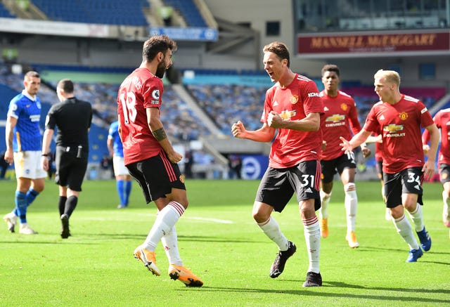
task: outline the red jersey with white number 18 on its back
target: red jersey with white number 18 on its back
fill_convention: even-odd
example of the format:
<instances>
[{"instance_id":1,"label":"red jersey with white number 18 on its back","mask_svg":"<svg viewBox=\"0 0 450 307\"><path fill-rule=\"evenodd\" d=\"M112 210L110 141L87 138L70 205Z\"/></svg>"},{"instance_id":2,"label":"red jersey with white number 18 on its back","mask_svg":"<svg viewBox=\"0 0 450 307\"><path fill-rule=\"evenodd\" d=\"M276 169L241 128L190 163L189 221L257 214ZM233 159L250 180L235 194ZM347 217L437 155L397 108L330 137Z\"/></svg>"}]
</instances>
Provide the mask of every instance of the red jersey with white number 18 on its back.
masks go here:
<instances>
[{"instance_id":1,"label":"red jersey with white number 18 on its back","mask_svg":"<svg viewBox=\"0 0 450 307\"><path fill-rule=\"evenodd\" d=\"M162 81L146 68L139 67L124 79L117 94L120 138L125 165L159 155L162 147L147 123L147 107L160 107Z\"/></svg>"}]
</instances>

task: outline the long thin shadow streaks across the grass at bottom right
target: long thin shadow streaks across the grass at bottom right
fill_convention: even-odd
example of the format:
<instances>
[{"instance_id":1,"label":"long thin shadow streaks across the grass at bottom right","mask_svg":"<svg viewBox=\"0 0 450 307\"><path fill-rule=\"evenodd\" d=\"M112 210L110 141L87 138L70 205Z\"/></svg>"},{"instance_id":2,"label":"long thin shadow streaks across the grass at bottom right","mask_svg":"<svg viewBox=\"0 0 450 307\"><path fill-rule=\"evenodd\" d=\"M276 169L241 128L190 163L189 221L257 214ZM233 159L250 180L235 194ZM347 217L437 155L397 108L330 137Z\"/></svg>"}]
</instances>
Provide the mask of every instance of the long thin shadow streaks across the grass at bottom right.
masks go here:
<instances>
[{"instance_id":1,"label":"long thin shadow streaks across the grass at bottom right","mask_svg":"<svg viewBox=\"0 0 450 307\"><path fill-rule=\"evenodd\" d=\"M298 280L295 280L298 282ZM301 285L299 285L301 287ZM397 292L405 292L405 293L416 293L417 296L392 296L392 295L368 295L368 294L350 294L350 293L330 293L330 292L320 292L320 289L326 287L340 287L340 288L351 288L351 289L366 289L368 291L372 290L380 290L380 291L397 291ZM189 291L191 288L186 288L184 291ZM445 289L405 289L405 288L383 288L383 287L363 287L359 285L349 285L345 282L326 282L322 287L314 287L314 288L302 288L298 290L274 290L274 289L247 289L247 288L230 288L230 287L207 287L203 286L202 291L210 291L210 292L244 292L244 293L273 293L273 294L291 294L298 296L321 296L321 297L332 297L332 298L343 298L343 299L369 299L369 300L380 300L380 301L404 301L404 302L423 302L423 303L449 303L448 299L429 299L425 297L420 297L420 293L430 294L450 294L449 290ZM314 291L314 290L319 291Z\"/></svg>"}]
</instances>

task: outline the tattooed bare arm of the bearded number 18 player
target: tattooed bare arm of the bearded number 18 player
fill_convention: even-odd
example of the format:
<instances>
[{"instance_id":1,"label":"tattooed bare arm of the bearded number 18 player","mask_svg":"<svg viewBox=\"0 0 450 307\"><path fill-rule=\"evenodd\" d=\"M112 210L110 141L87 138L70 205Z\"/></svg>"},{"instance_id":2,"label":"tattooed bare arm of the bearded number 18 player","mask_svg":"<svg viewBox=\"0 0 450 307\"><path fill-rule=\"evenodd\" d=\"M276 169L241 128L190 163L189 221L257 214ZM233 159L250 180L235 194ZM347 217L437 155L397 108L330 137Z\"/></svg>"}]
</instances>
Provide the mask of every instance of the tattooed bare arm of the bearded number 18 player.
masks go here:
<instances>
[{"instance_id":1,"label":"tattooed bare arm of the bearded number 18 player","mask_svg":"<svg viewBox=\"0 0 450 307\"><path fill-rule=\"evenodd\" d=\"M160 145L166 152L170 162L180 162L183 156L174 150L169 138L167 138L166 131L160 120L160 109L158 109L158 107L147 107L146 112L148 127L150 128L150 131L152 131L153 136L155 136L156 141L160 142Z\"/></svg>"}]
</instances>

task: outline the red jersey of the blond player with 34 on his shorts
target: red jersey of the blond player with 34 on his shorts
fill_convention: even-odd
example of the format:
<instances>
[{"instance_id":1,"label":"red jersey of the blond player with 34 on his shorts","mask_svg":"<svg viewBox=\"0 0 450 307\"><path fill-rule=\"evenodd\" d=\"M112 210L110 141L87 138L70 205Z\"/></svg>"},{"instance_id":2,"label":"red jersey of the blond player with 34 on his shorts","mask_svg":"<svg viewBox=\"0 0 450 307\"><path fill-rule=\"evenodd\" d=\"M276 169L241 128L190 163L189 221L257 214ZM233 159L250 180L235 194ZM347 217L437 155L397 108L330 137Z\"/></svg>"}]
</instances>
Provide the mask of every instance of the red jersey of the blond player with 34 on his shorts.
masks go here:
<instances>
[{"instance_id":1,"label":"red jersey of the blond player with 34 on his shorts","mask_svg":"<svg viewBox=\"0 0 450 307\"><path fill-rule=\"evenodd\" d=\"M401 95L394 105L375 103L367 115L364 130L382 131L383 171L394 174L409 167L423 166L420 128L431 124L430 112L420 100Z\"/></svg>"}]
</instances>

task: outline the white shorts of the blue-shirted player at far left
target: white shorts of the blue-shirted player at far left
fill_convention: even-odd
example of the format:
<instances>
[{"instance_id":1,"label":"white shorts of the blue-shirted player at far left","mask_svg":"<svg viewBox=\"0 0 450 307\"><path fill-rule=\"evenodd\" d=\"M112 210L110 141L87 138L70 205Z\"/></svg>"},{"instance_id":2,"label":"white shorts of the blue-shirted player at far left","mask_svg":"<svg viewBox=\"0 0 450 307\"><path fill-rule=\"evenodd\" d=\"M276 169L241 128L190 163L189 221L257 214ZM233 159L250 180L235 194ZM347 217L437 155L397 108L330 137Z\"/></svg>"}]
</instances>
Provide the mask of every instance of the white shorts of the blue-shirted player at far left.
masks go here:
<instances>
[{"instance_id":1,"label":"white shorts of the blue-shirted player at far left","mask_svg":"<svg viewBox=\"0 0 450 307\"><path fill-rule=\"evenodd\" d=\"M15 178L46 178L41 166L41 150L14 152Z\"/></svg>"}]
</instances>

